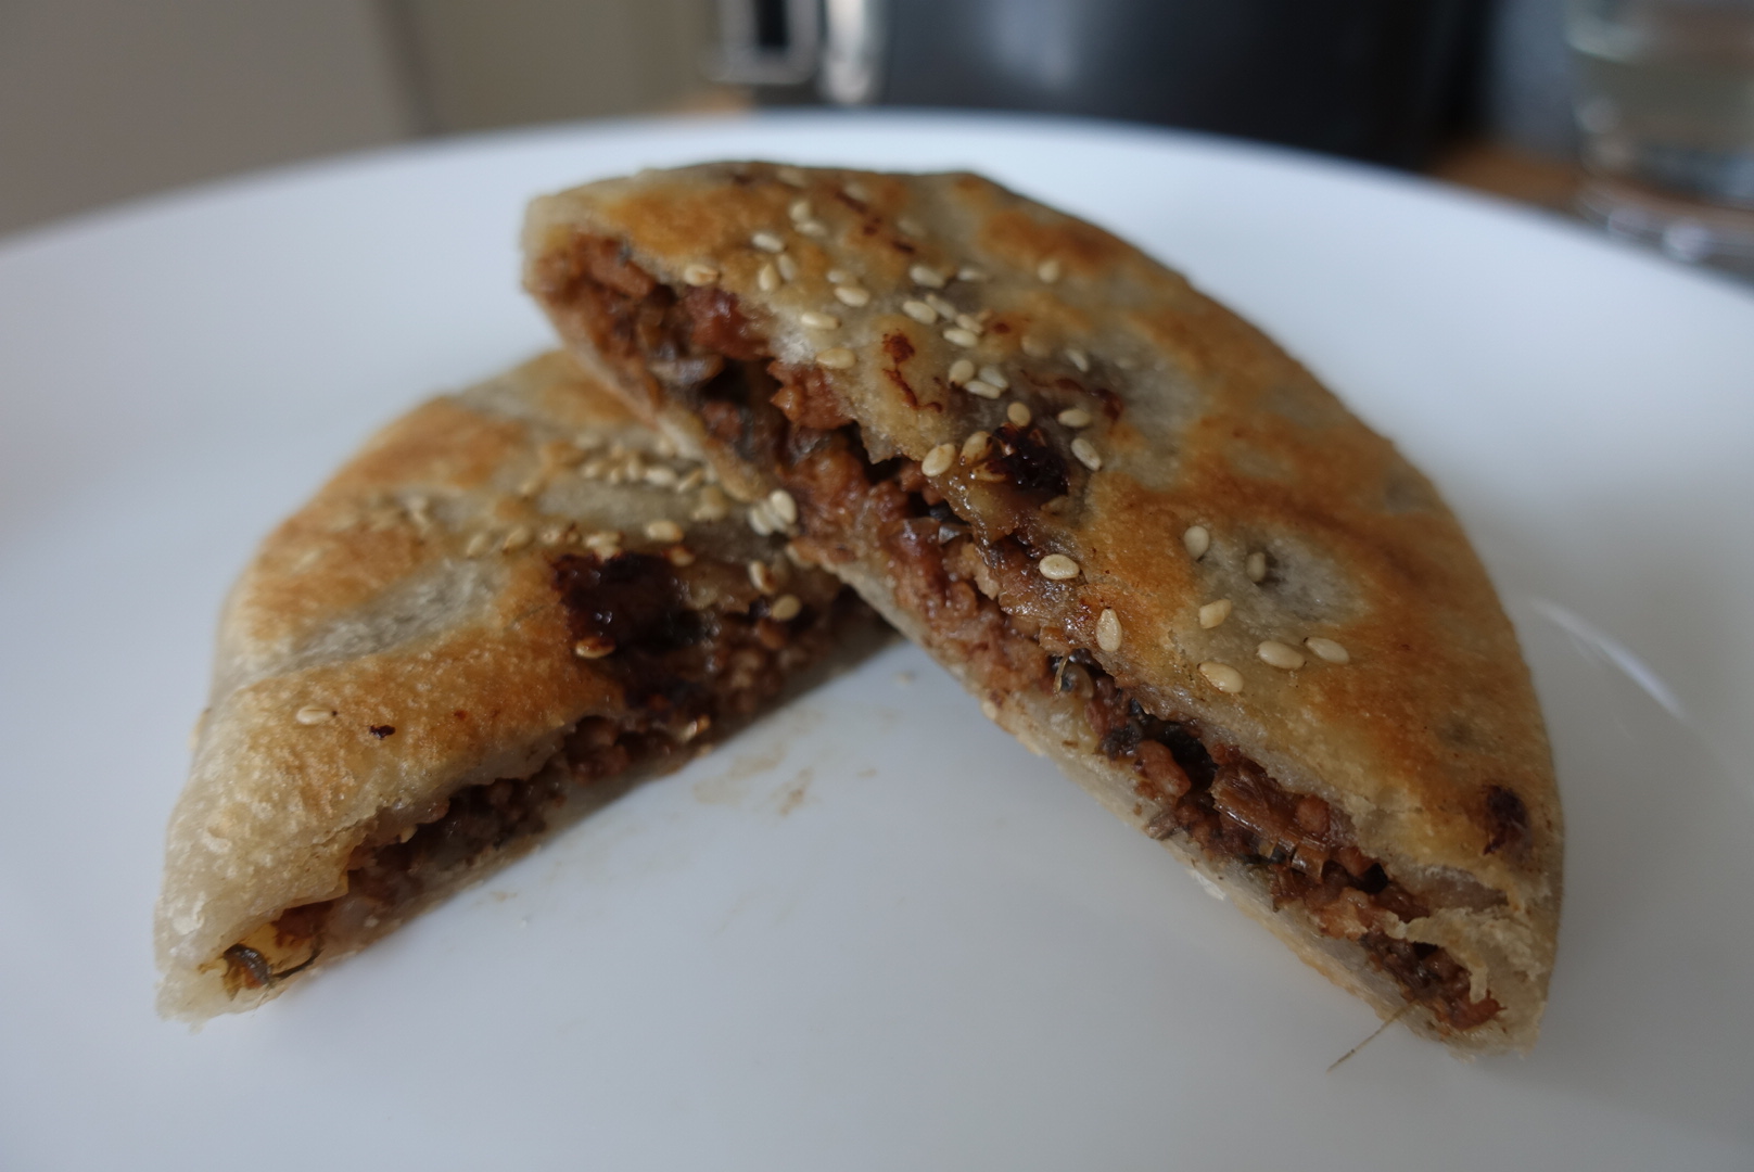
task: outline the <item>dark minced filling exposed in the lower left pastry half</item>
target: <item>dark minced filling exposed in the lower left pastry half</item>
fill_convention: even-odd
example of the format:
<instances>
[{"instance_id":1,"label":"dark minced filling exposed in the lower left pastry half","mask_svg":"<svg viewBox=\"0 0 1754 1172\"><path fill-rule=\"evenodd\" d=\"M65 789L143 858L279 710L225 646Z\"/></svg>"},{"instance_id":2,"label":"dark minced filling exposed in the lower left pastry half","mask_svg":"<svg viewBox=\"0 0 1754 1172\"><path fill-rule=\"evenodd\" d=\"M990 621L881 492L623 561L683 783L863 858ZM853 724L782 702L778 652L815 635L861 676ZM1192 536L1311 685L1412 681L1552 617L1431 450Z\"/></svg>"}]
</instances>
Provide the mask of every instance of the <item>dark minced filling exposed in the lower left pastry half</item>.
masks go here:
<instances>
[{"instance_id":1,"label":"dark minced filling exposed in the lower left pastry half","mask_svg":"<svg viewBox=\"0 0 1754 1172\"><path fill-rule=\"evenodd\" d=\"M572 639L600 651L595 670L621 684L623 709L581 719L533 775L465 786L423 823L368 837L349 861L346 895L288 909L225 951L228 993L272 986L324 951L381 935L433 888L533 840L577 788L681 765L702 737L749 718L868 614L851 590L810 572L788 582L798 611L777 618L777 597L758 593L745 565L698 558L684 568L652 553L560 554L553 586ZM703 597L714 605L689 605Z\"/></svg>"}]
</instances>

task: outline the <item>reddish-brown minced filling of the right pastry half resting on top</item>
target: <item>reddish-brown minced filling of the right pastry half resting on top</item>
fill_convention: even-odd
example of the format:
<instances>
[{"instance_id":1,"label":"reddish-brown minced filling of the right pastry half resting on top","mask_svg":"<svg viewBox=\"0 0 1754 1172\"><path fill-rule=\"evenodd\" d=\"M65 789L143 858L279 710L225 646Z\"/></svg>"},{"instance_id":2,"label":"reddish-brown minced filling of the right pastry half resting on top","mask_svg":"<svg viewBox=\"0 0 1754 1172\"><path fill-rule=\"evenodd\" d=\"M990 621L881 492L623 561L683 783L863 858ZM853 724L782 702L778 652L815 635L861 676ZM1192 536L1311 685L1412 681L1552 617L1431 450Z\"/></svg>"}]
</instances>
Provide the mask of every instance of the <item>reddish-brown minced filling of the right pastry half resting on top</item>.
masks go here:
<instances>
[{"instance_id":1,"label":"reddish-brown minced filling of the right pastry half resting on top","mask_svg":"<svg viewBox=\"0 0 1754 1172\"><path fill-rule=\"evenodd\" d=\"M735 297L675 291L614 240L591 237L551 256L535 284L563 330L635 382L656 381L654 391L698 414L724 451L791 493L802 553L882 565L935 649L993 695L1080 700L1098 749L1133 772L1135 812L1149 812L1152 837L1182 835L1214 860L1254 868L1275 907L1296 904L1326 935L1356 942L1444 1028L1472 1030L1500 1012L1491 995L1470 1000L1468 968L1445 949L1389 933L1430 907L1358 849L1340 811L1287 791L1198 721L1149 711L1087 649L1061 646L1063 635L1024 614L1040 611L1002 609L995 597L1042 590L1026 526L982 540L916 461L868 460L821 372L774 361ZM982 472L1012 488L1019 516L1052 509L1068 484L1040 428L998 428Z\"/></svg>"}]
</instances>

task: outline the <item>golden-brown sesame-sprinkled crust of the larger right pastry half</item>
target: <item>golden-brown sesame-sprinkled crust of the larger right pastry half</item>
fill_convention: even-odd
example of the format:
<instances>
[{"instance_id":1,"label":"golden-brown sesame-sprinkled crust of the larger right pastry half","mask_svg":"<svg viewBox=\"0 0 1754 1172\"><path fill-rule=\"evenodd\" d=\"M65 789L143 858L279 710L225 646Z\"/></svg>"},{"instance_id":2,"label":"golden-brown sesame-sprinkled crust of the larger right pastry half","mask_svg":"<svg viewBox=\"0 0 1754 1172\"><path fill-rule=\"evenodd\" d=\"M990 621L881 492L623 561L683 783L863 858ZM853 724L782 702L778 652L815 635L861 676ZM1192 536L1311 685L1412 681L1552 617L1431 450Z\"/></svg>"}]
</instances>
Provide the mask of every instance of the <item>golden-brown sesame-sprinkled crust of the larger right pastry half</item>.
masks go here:
<instances>
[{"instance_id":1,"label":"golden-brown sesame-sprinkled crust of the larger right pastry half","mask_svg":"<svg viewBox=\"0 0 1754 1172\"><path fill-rule=\"evenodd\" d=\"M775 368L809 370L817 411L854 419L873 460L924 461L945 444L959 453L972 433L998 432L1012 404L1028 407L1063 463L1065 500L1019 512L965 458L930 477L979 537L1077 563L1045 602L1000 604L1035 607L1044 644L1089 649L1154 711L1198 719L1286 788L1342 809L1358 846L1408 886L1501 893L1498 907L1435 912L1405 935L1442 944L1505 1007L1449 1040L1533 1042L1558 926L1561 816L1528 670L1438 493L1303 367L1135 247L973 175L721 163L537 200L530 289L584 361L719 460L745 498L772 488L765 472L716 446L652 370L605 354L582 319L581 288L605 267L588 249L603 240L665 286L735 298ZM1005 386L970 393L963 360ZM1068 409L1089 421L1059 423ZM1198 558L1184 540L1194 526L1209 535ZM1251 554L1265 556L1261 581ZM931 646L881 565L837 572ZM1217 600L1231 614L1203 626L1200 607ZM1349 661L1326 661L1307 639L1338 644ZM1266 640L1301 665L1263 661ZM1221 690L1212 675L1224 672L1201 665L1233 668L1242 690ZM1052 740L1044 712L988 698L1019 735ZM1149 821L1112 767L1080 765L1089 754L1065 740L1049 747L1117 812ZM1326 940L1258 911L1340 979ZM1373 975L1342 983L1358 990Z\"/></svg>"}]
</instances>

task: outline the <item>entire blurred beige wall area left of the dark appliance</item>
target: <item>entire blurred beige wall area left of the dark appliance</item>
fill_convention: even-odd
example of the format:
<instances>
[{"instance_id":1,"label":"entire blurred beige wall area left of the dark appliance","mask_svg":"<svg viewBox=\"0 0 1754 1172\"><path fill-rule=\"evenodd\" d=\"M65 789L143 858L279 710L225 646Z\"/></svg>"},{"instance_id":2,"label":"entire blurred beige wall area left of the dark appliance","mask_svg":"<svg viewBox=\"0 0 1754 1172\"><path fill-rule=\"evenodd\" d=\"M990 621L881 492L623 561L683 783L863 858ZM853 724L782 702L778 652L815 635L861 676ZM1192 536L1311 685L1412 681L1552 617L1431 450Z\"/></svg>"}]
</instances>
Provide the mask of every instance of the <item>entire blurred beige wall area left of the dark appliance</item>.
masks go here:
<instances>
[{"instance_id":1,"label":"entire blurred beige wall area left of the dark appliance","mask_svg":"<svg viewBox=\"0 0 1754 1172\"><path fill-rule=\"evenodd\" d=\"M0 233L274 163L698 104L710 0L0 0Z\"/></svg>"}]
</instances>

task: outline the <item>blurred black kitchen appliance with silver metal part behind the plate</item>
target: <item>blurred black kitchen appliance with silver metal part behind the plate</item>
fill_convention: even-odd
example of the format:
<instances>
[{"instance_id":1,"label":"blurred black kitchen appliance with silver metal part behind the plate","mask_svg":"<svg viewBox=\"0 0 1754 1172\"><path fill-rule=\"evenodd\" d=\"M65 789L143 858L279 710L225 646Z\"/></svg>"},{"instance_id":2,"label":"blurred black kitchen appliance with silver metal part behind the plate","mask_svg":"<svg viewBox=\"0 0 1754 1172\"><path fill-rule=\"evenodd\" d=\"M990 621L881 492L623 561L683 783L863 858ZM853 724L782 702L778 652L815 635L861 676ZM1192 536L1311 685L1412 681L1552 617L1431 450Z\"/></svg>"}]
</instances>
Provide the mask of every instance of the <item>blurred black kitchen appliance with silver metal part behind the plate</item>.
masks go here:
<instances>
[{"instance_id":1,"label":"blurred black kitchen appliance with silver metal part behind the plate","mask_svg":"<svg viewBox=\"0 0 1754 1172\"><path fill-rule=\"evenodd\" d=\"M1486 0L719 0L763 100L1089 114L1421 165ZM766 88L763 88L766 86Z\"/></svg>"}]
</instances>

